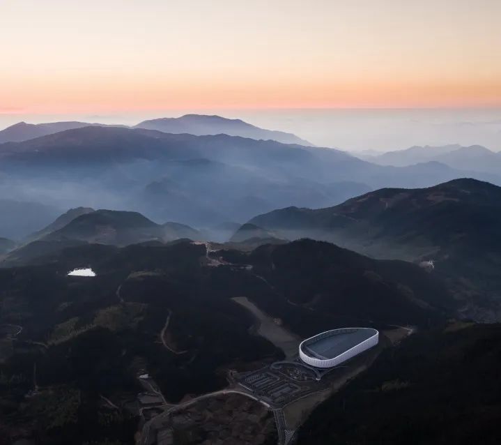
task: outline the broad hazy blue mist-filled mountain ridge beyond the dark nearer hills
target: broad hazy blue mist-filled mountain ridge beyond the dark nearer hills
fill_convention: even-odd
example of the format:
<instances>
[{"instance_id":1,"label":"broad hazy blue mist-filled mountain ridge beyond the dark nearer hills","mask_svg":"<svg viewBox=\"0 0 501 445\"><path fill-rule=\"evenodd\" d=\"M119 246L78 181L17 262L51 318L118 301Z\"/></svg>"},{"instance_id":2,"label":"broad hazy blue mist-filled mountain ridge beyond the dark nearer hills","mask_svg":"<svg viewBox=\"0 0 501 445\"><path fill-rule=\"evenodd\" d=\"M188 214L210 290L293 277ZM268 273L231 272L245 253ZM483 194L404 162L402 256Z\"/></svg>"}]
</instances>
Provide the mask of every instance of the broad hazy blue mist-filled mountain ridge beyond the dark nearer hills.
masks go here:
<instances>
[{"instance_id":1,"label":"broad hazy blue mist-filled mountain ridge beyond the dark nearer hills","mask_svg":"<svg viewBox=\"0 0 501 445\"><path fill-rule=\"evenodd\" d=\"M388 186L432 186L464 176L501 183L497 174L436 161L391 167L274 140L102 126L0 144L0 161L0 191L20 202L139 211L197 229L285 206L332 206ZM3 235L19 238L33 229Z\"/></svg>"}]
</instances>

